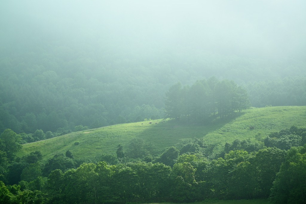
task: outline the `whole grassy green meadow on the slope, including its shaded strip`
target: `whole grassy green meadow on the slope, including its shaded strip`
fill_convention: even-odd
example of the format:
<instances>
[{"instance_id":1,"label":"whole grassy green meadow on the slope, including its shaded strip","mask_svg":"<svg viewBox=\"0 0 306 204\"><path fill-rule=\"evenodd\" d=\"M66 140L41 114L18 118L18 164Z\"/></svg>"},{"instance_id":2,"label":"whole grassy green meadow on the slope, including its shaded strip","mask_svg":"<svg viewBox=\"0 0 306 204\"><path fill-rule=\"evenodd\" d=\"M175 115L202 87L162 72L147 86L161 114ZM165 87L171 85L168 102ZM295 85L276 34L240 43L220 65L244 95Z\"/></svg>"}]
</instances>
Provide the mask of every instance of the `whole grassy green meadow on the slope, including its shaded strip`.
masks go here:
<instances>
[{"instance_id":1,"label":"whole grassy green meadow on the slope, including its shaded strip","mask_svg":"<svg viewBox=\"0 0 306 204\"><path fill-rule=\"evenodd\" d=\"M204 138L207 143L222 144L234 139L255 139L259 132L263 137L266 133L292 125L305 126L306 106L254 108L208 124L187 124L169 119L151 122L111 125L27 143L20 155L39 150L46 159L56 151L65 153L70 150L75 158L92 158L96 153L114 153L118 144L126 147L135 137L154 142L160 150L183 138ZM250 130L250 126L254 129ZM79 141L79 145L74 145L75 141Z\"/></svg>"}]
</instances>

